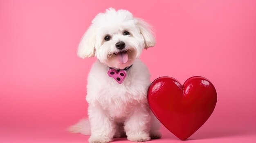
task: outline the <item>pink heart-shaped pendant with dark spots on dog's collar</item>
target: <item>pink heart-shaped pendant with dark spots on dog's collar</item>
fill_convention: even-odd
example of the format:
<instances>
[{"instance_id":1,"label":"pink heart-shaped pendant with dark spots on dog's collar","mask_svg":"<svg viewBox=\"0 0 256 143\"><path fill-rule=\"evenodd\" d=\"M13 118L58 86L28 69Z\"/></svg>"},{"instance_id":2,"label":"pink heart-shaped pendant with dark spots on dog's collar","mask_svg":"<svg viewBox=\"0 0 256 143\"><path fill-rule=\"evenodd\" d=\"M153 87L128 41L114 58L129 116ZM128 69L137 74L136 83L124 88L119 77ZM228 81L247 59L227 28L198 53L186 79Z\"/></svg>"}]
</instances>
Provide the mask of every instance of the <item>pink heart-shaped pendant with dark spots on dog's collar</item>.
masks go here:
<instances>
[{"instance_id":1,"label":"pink heart-shaped pendant with dark spots on dog's collar","mask_svg":"<svg viewBox=\"0 0 256 143\"><path fill-rule=\"evenodd\" d=\"M117 83L122 84L124 82L124 79L126 78L126 71L125 70L117 71L114 68L111 68L108 70L108 76L115 79Z\"/></svg>"}]
</instances>

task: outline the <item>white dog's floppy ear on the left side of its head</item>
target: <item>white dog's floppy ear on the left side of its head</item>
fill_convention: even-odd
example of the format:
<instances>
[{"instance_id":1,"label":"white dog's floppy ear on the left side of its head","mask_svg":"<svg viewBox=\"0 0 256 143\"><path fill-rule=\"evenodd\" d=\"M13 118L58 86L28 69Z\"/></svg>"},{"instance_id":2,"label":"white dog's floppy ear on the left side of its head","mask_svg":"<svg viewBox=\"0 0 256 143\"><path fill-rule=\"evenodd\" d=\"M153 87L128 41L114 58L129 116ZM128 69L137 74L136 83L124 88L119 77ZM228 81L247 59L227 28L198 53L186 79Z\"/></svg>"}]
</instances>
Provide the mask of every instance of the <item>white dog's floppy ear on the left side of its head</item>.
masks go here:
<instances>
[{"instance_id":1,"label":"white dog's floppy ear on the left side of its head","mask_svg":"<svg viewBox=\"0 0 256 143\"><path fill-rule=\"evenodd\" d=\"M85 57L94 57L95 54L95 31L94 27L90 26L88 30L84 33L79 46L77 55L78 57L85 58Z\"/></svg>"}]
</instances>

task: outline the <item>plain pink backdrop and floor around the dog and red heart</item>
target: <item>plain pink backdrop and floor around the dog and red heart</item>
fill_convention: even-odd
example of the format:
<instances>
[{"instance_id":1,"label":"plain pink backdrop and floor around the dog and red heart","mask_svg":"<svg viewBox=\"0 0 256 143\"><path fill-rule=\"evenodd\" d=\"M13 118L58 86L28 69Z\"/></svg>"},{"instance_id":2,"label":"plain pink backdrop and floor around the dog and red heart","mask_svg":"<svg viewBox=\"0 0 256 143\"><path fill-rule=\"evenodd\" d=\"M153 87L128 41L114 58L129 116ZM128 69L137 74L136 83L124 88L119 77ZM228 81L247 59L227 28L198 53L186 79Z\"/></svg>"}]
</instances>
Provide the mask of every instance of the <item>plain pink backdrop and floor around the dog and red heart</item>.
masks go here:
<instances>
[{"instance_id":1,"label":"plain pink backdrop and floor around the dog and red heart","mask_svg":"<svg viewBox=\"0 0 256 143\"><path fill-rule=\"evenodd\" d=\"M79 59L76 49L108 7L153 25L157 44L141 55L152 81L200 75L215 85L216 109L189 142L256 140L255 0L0 0L1 143L87 142L65 131L87 116L86 78L96 60ZM181 142L162 132L152 142Z\"/></svg>"}]
</instances>

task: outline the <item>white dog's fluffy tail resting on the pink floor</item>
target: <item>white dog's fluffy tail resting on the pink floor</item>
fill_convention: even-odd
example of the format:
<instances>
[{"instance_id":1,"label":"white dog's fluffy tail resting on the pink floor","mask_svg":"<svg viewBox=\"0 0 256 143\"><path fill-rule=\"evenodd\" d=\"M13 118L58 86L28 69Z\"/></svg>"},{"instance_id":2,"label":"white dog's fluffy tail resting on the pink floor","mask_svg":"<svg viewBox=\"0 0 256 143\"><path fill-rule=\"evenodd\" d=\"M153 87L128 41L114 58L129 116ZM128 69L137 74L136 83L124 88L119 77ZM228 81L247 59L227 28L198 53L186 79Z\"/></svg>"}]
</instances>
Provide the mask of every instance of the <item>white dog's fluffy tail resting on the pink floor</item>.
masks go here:
<instances>
[{"instance_id":1,"label":"white dog's fluffy tail resting on the pink floor","mask_svg":"<svg viewBox=\"0 0 256 143\"><path fill-rule=\"evenodd\" d=\"M91 135L91 125L88 119L81 119L78 123L70 126L67 130L72 133L81 133L88 136Z\"/></svg>"}]
</instances>

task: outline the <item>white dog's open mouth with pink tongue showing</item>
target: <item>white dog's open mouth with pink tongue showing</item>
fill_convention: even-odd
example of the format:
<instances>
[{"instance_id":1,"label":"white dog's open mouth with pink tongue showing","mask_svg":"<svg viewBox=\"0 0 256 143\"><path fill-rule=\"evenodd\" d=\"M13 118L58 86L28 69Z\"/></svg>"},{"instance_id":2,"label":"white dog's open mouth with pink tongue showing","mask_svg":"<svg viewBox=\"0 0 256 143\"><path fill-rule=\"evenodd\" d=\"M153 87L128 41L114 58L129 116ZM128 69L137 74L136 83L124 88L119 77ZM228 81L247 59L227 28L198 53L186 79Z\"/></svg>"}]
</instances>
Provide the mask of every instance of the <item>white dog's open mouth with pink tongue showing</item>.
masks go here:
<instances>
[{"instance_id":1,"label":"white dog's open mouth with pink tongue showing","mask_svg":"<svg viewBox=\"0 0 256 143\"><path fill-rule=\"evenodd\" d=\"M125 49L123 51L115 52L110 54L110 58L116 58L119 64L126 64L129 59L132 59L134 56L134 49Z\"/></svg>"}]
</instances>

